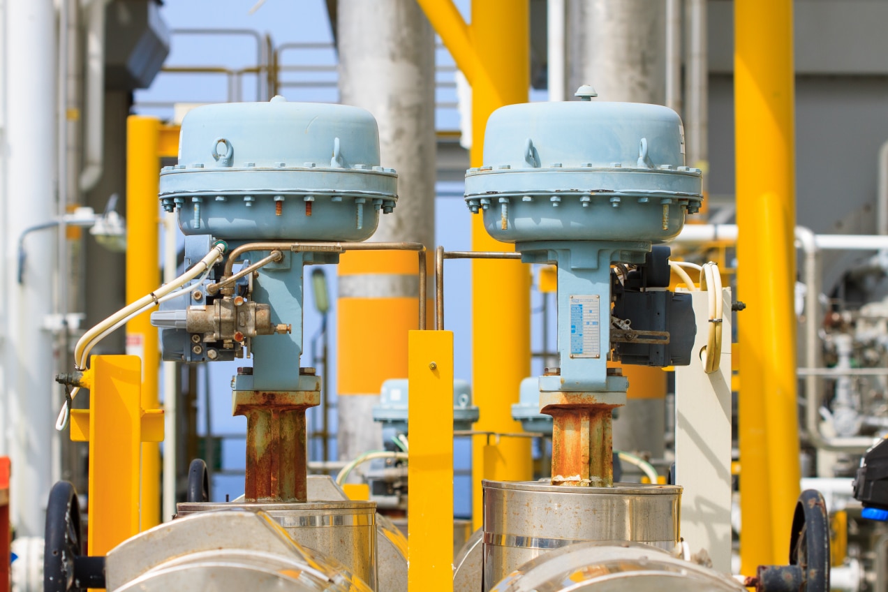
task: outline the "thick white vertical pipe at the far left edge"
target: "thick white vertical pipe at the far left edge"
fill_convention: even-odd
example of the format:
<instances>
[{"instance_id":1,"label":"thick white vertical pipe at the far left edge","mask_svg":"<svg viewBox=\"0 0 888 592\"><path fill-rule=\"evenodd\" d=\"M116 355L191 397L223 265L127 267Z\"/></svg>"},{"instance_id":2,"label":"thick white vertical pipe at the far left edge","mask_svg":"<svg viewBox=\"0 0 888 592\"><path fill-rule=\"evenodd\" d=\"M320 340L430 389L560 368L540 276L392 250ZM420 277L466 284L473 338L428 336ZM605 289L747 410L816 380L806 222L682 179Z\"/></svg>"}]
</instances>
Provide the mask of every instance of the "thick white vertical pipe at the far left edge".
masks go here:
<instances>
[{"instance_id":1,"label":"thick white vertical pipe at the far left edge","mask_svg":"<svg viewBox=\"0 0 888 592\"><path fill-rule=\"evenodd\" d=\"M23 282L17 279L16 253L26 228L47 223L55 211L55 12L52 0L5 3L5 130L0 154L5 162L4 292L7 300L2 339L4 380L0 401L7 415L12 522L20 535L44 532L44 507L52 485L53 417L61 402L53 398L52 335L44 329L52 312L55 240L52 231L32 233Z\"/></svg>"}]
</instances>

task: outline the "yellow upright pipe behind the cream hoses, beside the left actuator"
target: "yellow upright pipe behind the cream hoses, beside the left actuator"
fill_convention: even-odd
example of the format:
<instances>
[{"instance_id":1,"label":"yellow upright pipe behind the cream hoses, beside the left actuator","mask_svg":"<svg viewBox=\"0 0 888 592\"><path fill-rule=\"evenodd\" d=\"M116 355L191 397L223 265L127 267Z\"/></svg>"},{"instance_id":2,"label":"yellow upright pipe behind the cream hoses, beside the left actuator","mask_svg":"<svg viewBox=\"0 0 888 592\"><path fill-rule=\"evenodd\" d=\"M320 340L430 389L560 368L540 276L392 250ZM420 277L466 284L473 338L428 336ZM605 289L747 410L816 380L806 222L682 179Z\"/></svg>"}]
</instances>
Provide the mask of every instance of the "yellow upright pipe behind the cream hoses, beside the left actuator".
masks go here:
<instances>
[{"instance_id":1,"label":"yellow upright pipe behind the cream hoses, beside the left actuator","mask_svg":"<svg viewBox=\"0 0 888 592\"><path fill-rule=\"evenodd\" d=\"M130 115L126 122L126 301L153 292L161 281L158 245L161 124L154 117ZM157 329L150 312L126 324L127 353L142 359L142 408L159 407ZM160 445L142 444L141 525L160 524Z\"/></svg>"}]
</instances>

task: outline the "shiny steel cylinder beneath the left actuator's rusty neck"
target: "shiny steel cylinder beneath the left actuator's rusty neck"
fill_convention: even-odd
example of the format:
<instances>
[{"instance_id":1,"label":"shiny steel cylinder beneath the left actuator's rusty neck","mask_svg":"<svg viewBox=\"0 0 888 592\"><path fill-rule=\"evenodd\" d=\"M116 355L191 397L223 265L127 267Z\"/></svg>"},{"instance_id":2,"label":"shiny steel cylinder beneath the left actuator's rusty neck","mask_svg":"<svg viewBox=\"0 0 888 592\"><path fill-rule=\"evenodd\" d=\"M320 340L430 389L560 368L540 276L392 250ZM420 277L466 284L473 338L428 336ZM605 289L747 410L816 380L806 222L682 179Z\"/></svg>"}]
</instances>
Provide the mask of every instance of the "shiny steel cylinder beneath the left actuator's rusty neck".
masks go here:
<instances>
[{"instance_id":1,"label":"shiny steel cylinder beneath the left actuator's rusty neck","mask_svg":"<svg viewBox=\"0 0 888 592\"><path fill-rule=\"evenodd\" d=\"M262 510L303 547L332 557L377 590L377 507L372 501L178 504L178 516L216 509Z\"/></svg>"}]
</instances>

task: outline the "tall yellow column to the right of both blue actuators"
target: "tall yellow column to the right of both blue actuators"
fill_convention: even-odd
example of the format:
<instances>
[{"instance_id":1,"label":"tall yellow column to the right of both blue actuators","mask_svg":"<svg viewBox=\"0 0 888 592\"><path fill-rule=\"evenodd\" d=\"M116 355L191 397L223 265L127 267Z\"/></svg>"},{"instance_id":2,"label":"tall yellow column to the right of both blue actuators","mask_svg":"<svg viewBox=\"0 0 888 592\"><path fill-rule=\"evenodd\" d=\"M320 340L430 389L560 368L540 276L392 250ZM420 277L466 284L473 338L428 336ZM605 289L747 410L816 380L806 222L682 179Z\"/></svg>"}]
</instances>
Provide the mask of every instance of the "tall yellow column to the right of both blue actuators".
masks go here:
<instances>
[{"instance_id":1,"label":"tall yellow column to the right of both blue actuators","mask_svg":"<svg viewBox=\"0 0 888 592\"><path fill-rule=\"evenodd\" d=\"M741 572L786 563L799 490L791 0L734 3Z\"/></svg>"}]
</instances>

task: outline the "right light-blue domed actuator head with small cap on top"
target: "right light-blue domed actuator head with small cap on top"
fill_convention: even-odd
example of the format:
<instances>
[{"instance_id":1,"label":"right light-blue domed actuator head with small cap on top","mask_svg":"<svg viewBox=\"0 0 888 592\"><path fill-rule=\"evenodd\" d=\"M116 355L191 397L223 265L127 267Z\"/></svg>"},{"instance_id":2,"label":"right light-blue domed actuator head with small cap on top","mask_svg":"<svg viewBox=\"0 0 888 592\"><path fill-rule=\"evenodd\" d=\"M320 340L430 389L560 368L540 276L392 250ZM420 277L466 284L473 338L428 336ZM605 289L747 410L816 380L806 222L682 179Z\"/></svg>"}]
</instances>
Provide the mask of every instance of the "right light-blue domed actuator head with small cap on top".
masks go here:
<instances>
[{"instance_id":1,"label":"right light-blue domed actuator head with small cap on top","mask_svg":"<svg viewBox=\"0 0 888 592\"><path fill-rule=\"evenodd\" d=\"M685 165L681 119L668 107L592 101L497 109L484 166L467 171L465 201L496 240L668 241L702 202Z\"/></svg>"}]
</instances>

